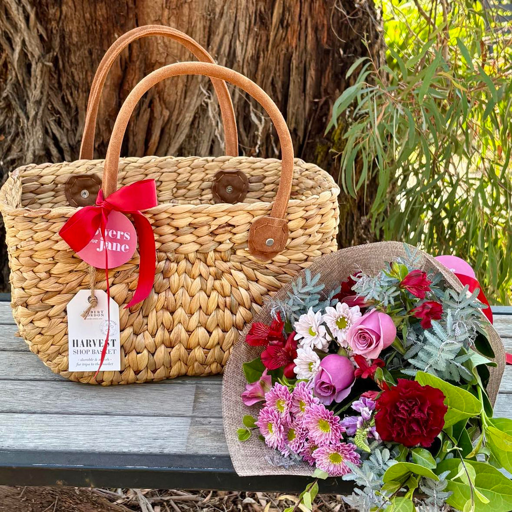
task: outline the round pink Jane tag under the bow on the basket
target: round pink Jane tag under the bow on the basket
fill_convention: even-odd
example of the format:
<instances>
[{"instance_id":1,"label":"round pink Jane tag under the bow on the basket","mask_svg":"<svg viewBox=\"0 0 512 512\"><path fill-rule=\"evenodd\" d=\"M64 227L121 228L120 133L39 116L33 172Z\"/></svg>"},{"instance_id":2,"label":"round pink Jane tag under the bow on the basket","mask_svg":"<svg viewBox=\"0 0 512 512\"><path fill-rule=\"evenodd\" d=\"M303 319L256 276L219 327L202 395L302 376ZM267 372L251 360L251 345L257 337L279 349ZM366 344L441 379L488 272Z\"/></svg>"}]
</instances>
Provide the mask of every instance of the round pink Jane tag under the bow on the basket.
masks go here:
<instances>
[{"instance_id":1,"label":"round pink Jane tag under the bow on the basket","mask_svg":"<svg viewBox=\"0 0 512 512\"><path fill-rule=\"evenodd\" d=\"M106 221L105 238L98 229L93 239L78 252L79 257L96 268L105 268L105 250L109 268L116 268L132 259L137 248L137 233L130 219L119 211L111 211Z\"/></svg>"}]
</instances>

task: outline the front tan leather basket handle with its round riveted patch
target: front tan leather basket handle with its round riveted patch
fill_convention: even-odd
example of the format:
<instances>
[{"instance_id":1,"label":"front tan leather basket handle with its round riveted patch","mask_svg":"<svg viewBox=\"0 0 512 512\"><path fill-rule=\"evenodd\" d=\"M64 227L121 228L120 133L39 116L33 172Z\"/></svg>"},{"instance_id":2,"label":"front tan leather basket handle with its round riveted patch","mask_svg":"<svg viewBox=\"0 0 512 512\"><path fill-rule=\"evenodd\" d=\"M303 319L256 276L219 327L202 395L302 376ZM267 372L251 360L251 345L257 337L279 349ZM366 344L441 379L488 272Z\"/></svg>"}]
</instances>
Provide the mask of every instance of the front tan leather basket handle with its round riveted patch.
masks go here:
<instances>
[{"instance_id":1,"label":"front tan leather basket handle with its round riveted patch","mask_svg":"<svg viewBox=\"0 0 512 512\"><path fill-rule=\"evenodd\" d=\"M103 169L103 194L108 197L117 190L117 174L121 145L130 117L137 102L156 83L178 75L205 75L230 82L258 101L267 111L278 133L281 144L281 179L272 204L270 216L255 219L249 229L249 252L259 260L269 260L282 252L288 241L285 220L293 179L293 144L283 115L267 93L246 76L223 66L206 62L179 62L153 71L144 77L130 92L117 116L106 151Z\"/></svg>"}]
</instances>

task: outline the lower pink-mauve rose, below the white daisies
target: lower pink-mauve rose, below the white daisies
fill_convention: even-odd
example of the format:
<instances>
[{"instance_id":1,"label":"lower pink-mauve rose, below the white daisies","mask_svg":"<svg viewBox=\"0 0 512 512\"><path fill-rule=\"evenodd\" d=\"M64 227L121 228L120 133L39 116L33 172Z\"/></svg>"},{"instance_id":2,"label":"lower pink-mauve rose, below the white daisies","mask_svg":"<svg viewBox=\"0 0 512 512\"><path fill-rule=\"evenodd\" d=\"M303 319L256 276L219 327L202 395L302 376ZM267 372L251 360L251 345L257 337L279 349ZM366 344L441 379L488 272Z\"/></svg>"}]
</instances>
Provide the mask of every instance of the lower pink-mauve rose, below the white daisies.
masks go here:
<instances>
[{"instance_id":1,"label":"lower pink-mauve rose, below the white daisies","mask_svg":"<svg viewBox=\"0 0 512 512\"><path fill-rule=\"evenodd\" d=\"M314 392L326 406L347 398L355 382L354 365L348 357L338 354L325 356L314 379Z\"/></svg>"}]
</instances>

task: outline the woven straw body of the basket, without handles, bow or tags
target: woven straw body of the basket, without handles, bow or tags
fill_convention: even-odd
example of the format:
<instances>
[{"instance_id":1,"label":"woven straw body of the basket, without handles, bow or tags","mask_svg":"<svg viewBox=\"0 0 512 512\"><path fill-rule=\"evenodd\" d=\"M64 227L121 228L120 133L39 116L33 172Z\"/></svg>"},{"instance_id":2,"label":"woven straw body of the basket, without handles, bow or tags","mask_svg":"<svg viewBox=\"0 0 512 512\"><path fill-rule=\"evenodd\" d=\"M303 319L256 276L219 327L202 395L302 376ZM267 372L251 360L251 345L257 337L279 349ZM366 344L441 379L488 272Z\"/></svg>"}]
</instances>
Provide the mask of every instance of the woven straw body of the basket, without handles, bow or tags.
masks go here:
<instances>
[{"instance_id":1,"label":"woven straw body of the basket, without handles, bow or tags","mask_svg":"<svg viewBox=\"0 0 512 512\"><path fill-rule=\"evenodd\" d=\"M213 204L212 178L220 169L249 178L244 203ZM253 219L268 215L281 161L220 157L125 158L119 183L157 182L159 205L145 212L155 234L153 292L120 309L121 371L100 372L103 384L144 382L222 371L239 330L278 290L322 254L336 250L338 187L315 165L294 161L285 250L268 263L247 250ZM11 269L12 307L20 335L55 373L94 382L94 373L68 372L66 305L89 287L89 266L58 231L76 208L64 184L72 174L101 174L103 160L27 165L0 190ZM110 272L111 295L127 304L135 290L138 253ZM96 288L105 290L102 272Z\"/></svg>"}]
</instances>

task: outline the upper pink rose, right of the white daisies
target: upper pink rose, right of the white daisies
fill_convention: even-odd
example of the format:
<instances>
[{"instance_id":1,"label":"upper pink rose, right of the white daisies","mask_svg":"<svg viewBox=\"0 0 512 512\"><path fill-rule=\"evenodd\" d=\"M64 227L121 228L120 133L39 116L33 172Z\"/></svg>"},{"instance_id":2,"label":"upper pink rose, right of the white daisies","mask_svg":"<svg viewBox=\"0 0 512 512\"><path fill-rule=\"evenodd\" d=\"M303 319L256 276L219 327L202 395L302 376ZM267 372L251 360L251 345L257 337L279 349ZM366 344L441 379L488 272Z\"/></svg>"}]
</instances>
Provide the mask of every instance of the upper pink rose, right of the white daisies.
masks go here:
<instances>
[{"instance_id":1,"label":"upper pink rose, right of the white daisies","mask_svg":"<svg viewBox=\"0 0 512 512\"><path fill-rule=\"evenodd\" d=\"M362 315L347 332L347 342L354 354L375 359L396 338L393 318L375 309Z\"/></svg>"}]
</instances>

